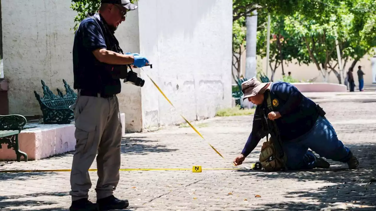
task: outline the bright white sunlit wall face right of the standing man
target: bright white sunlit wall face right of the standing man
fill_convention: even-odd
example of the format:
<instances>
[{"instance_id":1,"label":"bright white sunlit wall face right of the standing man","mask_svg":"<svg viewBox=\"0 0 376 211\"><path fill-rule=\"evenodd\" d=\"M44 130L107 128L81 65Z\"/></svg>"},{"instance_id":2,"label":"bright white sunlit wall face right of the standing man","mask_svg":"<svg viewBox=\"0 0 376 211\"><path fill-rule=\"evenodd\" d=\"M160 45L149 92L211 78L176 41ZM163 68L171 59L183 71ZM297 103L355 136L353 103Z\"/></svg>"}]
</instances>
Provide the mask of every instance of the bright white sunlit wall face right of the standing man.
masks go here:
<instances>
[{"instance_id":1,"label":"bright white sunlit wall face right of the standing man","mask_svg":"<svg viewBox=\"0 0 376 211\"><path fill-rule=\"evenodd\" d=\"M144 128L215 116L231 107L232 1L139 1L140 51L153 69L141 89Z\"/></svg>"}]
</instances>

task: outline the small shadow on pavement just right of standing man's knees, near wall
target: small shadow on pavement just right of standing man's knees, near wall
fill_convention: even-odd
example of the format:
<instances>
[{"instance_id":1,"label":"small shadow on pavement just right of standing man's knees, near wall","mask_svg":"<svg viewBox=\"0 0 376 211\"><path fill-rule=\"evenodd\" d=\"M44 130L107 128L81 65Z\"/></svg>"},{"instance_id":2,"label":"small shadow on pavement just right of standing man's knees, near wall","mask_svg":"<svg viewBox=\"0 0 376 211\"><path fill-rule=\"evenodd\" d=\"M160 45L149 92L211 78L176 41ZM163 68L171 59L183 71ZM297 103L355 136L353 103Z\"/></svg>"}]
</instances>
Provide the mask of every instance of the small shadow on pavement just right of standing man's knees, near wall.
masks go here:
<instances>
[{"instance_id":1,"label":"small shadow on pavement just right of standing man's knees, near wall","mask_svg":"<svg viewBox=\"0 0 376 211\"><path fill-rule=\"evenodd\" d=\"M167 148L167 145L158 144L157 140L147 140L146 137L127 137L121 140L122 154L146 155L150 152L173 152L179 149Z\"/></svg>"}]
</instances>

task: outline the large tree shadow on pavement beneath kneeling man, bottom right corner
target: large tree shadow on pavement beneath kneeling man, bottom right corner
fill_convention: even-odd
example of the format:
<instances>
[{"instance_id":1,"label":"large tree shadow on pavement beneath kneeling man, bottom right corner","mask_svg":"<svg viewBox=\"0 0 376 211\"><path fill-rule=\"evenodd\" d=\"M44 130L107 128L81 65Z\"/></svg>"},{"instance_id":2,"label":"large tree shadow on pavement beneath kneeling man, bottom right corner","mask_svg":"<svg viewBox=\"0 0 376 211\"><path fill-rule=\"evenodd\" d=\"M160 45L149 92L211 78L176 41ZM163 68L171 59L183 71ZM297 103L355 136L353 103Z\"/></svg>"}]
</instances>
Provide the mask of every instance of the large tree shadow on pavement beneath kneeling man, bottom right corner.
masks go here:
<instances>
[{"instance_id":1,"label":"large tree shadow on pavement beneath kneeling man, bottom right corner","mask_svg":"<svg viewBox=\"0 0 376 211\"><path fill-rule=\"evenodd\" d=\"M374 182L376 146L371 143L346 146L352 149L353 154L359 160L359 167L355 170L348 169L346 163L327 160L331 165L337 165L330 169L248 174L248 176L253 175L262 179L294 179L303 182L328 183L317 189L287 192L284 196L285 202L268 203L262 205L260 209L253 210L320 210L334 208L334 206L335 210L376 210L376 182ZM289 198L297 197L303 200L309 199L310 202L288 201Z\"/></svg>"}]
</instances>

